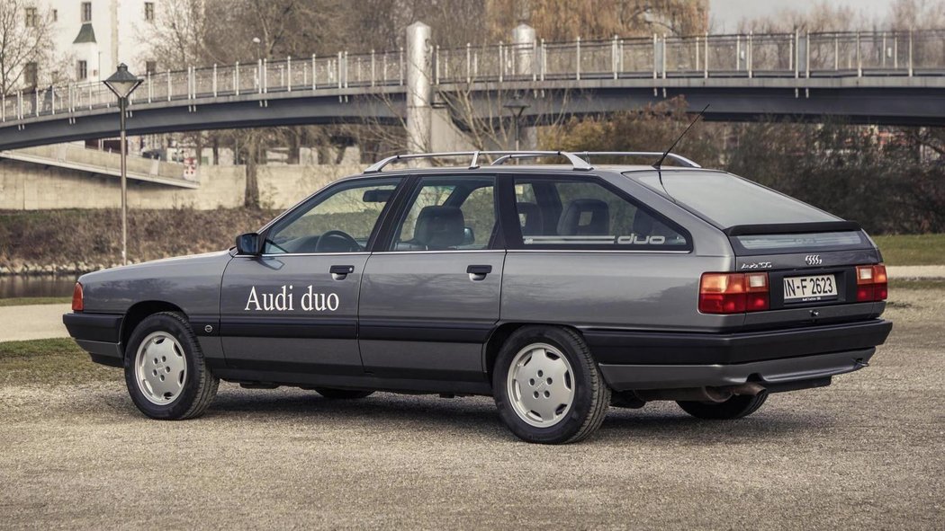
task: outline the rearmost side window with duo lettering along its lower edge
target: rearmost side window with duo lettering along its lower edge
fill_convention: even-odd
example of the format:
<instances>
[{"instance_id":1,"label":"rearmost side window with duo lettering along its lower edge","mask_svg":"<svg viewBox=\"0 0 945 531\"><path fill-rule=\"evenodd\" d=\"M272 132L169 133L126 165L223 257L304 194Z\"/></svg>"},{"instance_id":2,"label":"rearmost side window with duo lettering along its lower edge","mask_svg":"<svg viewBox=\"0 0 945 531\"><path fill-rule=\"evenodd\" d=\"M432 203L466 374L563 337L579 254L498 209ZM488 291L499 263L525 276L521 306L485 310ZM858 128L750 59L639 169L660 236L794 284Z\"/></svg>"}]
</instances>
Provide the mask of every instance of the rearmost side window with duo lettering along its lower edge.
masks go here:
<instances>
[{"instance_id":1,"label":"rearmost side window with duo lettering along its lower edge","mask_svg":"<svg viewBox=\"0 0 945 531\"><path fill-rule=\"evenodd\" d=\"M515 179L525 249L686 251L685 231L628 197L587 179Z\"/></svg>"}]
</instances>

